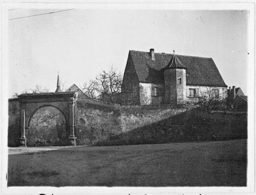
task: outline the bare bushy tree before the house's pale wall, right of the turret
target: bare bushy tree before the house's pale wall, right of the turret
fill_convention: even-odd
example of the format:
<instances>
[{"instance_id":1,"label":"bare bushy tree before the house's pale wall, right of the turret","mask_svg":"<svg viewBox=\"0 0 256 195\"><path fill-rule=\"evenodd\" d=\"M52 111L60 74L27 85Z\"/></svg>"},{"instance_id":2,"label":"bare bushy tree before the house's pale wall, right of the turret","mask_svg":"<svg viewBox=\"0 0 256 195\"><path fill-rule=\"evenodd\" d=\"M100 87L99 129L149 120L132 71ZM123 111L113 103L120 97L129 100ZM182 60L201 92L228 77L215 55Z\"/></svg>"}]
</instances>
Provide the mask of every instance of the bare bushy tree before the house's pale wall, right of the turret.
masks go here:
<instances>
[{"instance_id":1,"label":"bare bushy tree before the house's pale wall, right of the turret","mask_svg":"<svg viewBox=\"0 0 256 195\"><path fill-rule=\"evenodd\" d=\"M205 91L200 91L197 95L198 102L201 108L206 110L215 110L225 107L225 99L222 96L225 94L219 94L218 91L207 88Z\"/></svg>"}]
</instances>

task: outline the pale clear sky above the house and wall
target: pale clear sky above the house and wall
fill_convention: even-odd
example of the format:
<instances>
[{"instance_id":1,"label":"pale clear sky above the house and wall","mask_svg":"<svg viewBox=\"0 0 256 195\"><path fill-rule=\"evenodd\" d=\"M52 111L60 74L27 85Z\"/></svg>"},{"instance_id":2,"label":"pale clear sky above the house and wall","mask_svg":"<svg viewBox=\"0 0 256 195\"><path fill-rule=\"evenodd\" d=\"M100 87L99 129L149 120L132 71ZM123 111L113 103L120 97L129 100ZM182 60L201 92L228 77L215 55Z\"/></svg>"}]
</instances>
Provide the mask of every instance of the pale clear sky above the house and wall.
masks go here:
<instances>
[{"instance_id":1,"label":"pale clear sky above the house and wall","mask_svg":"<svg viewBox=\"0 0 256 195\"><path fill-rule=\"evenodd\" d=\"M14 9L8 11L8 96L35 85L82 87L129 50L212 58L226 85L247 94L246 10ZM26 17L36 14L38 16ZM15 19L18 18L18 19Z\"/></svg>"}]
</instances>

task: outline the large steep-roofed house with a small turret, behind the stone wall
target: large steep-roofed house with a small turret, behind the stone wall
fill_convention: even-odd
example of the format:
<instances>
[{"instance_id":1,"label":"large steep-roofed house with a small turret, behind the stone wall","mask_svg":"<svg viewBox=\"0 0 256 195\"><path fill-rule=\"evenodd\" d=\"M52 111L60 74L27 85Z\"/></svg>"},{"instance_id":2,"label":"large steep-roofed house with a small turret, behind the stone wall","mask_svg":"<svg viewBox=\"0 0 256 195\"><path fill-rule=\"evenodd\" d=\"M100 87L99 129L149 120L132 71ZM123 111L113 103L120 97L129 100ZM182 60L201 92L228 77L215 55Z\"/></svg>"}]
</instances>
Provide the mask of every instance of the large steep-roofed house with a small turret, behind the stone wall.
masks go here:
<instances>
[{"instance_id":1,"label":"large steep-roofed house with a small turret, behind the stone wall","mask_svg":"<svg viewBox=\"0 0 256 195\"><path fill-rule=\"evenodd\" d=\"M220 99L227 85L212 58L130 50L122 82L124 104L183 104L213 92Z\"/></svg>"}]
</instances>

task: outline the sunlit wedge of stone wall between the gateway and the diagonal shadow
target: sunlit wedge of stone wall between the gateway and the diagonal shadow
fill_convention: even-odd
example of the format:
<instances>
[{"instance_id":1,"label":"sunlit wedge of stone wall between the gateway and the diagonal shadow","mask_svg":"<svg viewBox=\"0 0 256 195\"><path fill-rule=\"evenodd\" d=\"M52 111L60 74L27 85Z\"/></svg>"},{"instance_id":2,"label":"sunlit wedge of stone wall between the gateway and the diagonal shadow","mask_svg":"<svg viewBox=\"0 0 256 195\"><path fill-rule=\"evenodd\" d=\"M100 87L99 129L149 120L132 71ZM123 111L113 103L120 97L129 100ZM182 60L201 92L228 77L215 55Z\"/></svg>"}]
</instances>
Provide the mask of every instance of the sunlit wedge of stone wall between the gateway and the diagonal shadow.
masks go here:
<instances>
[{"instance_id":1,"label":"sunlit wedge of stone wall between the gateway and the diagonal shadow","mask_svg":"<svg viewBox=\"0 0 256 195\"><path fill-rule=\"evenodd\" d=\"M110 137L169 118L185 108L171 105L105 104L78 99L75 107L77 144L91 145L109 140Z\"/></svg>"}]
</instances>

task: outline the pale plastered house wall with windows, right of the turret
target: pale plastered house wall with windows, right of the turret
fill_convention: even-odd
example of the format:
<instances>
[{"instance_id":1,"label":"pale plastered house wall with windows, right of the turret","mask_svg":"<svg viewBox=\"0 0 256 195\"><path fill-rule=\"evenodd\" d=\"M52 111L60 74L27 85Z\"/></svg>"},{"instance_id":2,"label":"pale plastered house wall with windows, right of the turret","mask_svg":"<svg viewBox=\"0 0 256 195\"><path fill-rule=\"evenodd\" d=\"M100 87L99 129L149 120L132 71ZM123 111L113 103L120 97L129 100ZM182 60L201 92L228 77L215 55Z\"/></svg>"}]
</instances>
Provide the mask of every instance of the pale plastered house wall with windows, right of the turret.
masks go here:
<instances>
[{"instance_id":1,"label":"pale plastered house wall with windows, right of the turret","mask_svg":"<svg viewBox=\"0 0 256 195\"><path fill-rule=\"evenodd\" d=\"M186 86L186 98L185 98L186 102L196 102L197 101L197 98L188 97L189 89L196 89L197 96L200 96L203 93L207 93L207 91L218 90L221 100L227 98L227 87L187 85Z\"/></svg>"}]
</instances>

